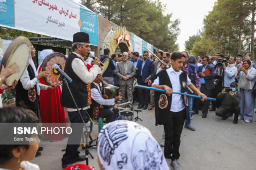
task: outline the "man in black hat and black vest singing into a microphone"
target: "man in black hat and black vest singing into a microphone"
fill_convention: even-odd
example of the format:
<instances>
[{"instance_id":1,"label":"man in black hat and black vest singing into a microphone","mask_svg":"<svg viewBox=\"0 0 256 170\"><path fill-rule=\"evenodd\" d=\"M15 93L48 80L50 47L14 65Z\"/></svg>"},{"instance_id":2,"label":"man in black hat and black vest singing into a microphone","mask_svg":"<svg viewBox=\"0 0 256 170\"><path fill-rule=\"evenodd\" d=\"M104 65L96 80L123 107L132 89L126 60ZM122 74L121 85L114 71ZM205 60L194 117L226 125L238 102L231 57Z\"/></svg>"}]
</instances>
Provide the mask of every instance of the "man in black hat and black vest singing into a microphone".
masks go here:
<instances>
[{"instance_id":1,"label":"man in black hat and black vest singing into a microphone","mask_svg":"<svg viewBox=\"0 0 256 170\"><path fill-rule=\"evenodd\" d=\"M84 61L88 59L90 53L89 43L88 33L77 32L73 35L73 52L68 56L64 69L64 72L73 80L73 82L69 83L68 86L78 108L80 109L80 113L84 121L87 114L86 109L88 109L89 105L92 104L90 98L90 83L92 83L96 76L101 73L101 68L99 67L100 59L98 58L93 62L94 65L90 71L88 71L85 66ZM61 106L67 108L71 123L82 123L82 118L79 112L77 112L67 86L63 86ZM77 151L81 141L82 127L82 124L71 124L73 133L69 135L66 152L61 159L63 168L86 159L85 156L80 156L80 152Z\"/></svg>"}]
</instances>

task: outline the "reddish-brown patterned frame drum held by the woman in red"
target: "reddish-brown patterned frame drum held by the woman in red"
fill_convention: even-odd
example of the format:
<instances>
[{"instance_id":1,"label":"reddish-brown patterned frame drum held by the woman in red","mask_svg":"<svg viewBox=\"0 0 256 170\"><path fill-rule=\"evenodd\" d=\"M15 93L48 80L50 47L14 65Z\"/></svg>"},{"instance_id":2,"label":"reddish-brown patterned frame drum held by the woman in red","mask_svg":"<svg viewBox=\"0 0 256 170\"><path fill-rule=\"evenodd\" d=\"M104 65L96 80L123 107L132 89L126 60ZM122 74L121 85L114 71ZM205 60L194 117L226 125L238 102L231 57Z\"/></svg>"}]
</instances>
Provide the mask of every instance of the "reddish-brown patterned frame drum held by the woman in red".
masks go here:
<instances>
[{"instance_id":1,"label":"reddish-brown patterned frame drum held by the woman in red","mask_svg":"<svg viewBox=\"0 0 256 170\"><path fill-rule=\"evenodd\" d=\"M42 71L49 71L51 74L47 77L44 77L43 80L50 86L60 86L62 81L59 80L60 73L53 69L52 65L56 64L64 71L66 63L66 57L62 53L51 53L42 63Z\"/></svg>"}]
</instances>

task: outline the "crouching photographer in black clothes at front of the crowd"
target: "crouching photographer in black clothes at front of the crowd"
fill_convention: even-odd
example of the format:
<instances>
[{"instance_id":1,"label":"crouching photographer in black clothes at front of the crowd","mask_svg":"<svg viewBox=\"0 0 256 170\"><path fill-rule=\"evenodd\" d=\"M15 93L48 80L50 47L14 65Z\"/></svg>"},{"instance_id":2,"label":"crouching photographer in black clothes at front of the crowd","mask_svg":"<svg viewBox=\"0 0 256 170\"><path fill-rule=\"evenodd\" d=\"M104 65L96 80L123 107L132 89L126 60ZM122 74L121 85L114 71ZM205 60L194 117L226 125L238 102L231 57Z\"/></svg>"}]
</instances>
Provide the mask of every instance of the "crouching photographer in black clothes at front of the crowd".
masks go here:
<instances>
[{"instance_id":1,"label":"crouching photographer in black clothes at front of the crowd","mask_svg":"<svg viewBox=\"0 0 256 170\"><path fill-rule=\"evenodd\" d=\"M240 114L240 92L237 91L237 83L230 83L231 88L224 88L217 96L221 100L221 107L217 109L216 115L222 117L222 120L228 118L228 113L235 113L233 124L237 124L238 115Z\"/></svg>"}]
</instances>

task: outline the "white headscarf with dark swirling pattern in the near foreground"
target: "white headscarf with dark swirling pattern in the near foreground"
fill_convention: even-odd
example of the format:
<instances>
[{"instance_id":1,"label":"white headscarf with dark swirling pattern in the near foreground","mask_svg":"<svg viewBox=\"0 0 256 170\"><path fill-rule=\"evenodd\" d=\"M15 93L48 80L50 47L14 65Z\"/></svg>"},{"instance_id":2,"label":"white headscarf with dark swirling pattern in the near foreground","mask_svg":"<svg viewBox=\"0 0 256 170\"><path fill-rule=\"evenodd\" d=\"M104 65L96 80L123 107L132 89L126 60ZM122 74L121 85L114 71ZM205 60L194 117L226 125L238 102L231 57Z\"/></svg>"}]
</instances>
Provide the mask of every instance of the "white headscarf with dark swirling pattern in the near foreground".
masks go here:
<instances>
[{"instance_id":1,"label":"white headscarf with dark swirling pattern in the near foreground","mask_svg":"<svg viewBox=\"0 0 256 170\"><path fill-rule=\"evenodd\" d=\"M163 152L150 131L132 121L106 124L98 135L97 152L105 170L168 169Z\"/></svg>"}]
</instances>

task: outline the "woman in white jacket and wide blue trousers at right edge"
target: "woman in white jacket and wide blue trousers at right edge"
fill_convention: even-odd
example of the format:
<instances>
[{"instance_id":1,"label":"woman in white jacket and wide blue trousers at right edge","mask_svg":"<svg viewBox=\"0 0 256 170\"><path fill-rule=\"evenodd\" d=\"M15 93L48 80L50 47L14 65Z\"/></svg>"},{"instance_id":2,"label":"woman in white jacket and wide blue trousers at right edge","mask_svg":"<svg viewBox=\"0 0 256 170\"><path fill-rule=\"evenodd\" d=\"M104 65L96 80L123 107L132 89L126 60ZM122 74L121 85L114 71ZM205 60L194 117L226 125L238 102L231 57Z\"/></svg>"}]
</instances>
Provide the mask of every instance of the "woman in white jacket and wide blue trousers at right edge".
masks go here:
<instances>
[{"instance_id":1,"label":"woman in white jacket and wide blue trousers at right edge","mask_svg":"<svg viewBox=\"0 0 256 170\"><path fill-rule=\"evenodd\" d=\"M250 59L243 61L243 67L238 68L236 78L238 79L238 90L241 94L239 118L247 123L253 122L255 98L252 91L256 81L256 69L251 67Z\"/></svg>"}]
</instances>

